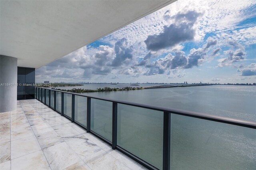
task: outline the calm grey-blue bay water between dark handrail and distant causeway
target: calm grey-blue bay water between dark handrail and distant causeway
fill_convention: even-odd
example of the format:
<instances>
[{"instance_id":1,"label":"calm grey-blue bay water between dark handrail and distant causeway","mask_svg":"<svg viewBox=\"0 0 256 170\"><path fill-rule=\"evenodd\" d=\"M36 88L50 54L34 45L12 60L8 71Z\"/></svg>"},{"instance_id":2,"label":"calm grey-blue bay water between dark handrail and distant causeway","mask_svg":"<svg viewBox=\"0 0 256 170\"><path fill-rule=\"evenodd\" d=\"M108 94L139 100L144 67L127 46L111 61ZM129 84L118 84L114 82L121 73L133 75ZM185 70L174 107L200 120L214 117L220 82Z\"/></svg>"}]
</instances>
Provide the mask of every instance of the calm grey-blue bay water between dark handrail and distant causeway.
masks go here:
<instances>
[{"instance_id":1,"label":"calm grey-blue bay water between dark handrail and distant causeway","mask_svg":"<svg viewBox=\"0 0 256 170\"><path fill-rule=\"evenodd\" d=\"M84 94L256 121L256 86L211 85Z\"/></svg>"}]
</instances>

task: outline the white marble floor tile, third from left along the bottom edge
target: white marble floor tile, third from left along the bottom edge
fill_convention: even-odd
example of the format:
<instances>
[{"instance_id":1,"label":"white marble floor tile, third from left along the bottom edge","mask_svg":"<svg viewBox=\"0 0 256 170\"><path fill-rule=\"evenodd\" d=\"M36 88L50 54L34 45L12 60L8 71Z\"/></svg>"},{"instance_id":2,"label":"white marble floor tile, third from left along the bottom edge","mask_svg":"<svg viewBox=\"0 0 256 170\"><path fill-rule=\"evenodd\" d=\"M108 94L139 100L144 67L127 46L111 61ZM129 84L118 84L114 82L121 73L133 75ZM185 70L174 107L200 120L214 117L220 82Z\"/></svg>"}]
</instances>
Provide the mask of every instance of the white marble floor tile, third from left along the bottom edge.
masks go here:
<instances>
[{"instance_id":1,"label":"white marble floor tile, third from left along the bottom edge","mask_svg":"<svg viewBox=\"0 0 256 170\"><path fill-rule=\"evenodd\" d=\"M62 170L81 160L66 142L44 148L43 152L52 170Z\"/></svg>"}]
</instances>

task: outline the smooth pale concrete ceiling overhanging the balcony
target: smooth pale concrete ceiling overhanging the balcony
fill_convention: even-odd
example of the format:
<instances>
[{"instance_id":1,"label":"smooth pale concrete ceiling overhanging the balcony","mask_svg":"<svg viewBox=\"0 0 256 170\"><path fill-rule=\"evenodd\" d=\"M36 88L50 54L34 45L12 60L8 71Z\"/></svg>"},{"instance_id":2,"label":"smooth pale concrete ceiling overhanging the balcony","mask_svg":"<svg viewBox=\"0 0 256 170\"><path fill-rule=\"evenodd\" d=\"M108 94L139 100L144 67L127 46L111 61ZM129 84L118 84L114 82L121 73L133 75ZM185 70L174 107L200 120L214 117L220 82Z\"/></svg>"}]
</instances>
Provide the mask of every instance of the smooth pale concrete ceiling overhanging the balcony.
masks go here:
<instances>
[{"instance_id":1,"label":"smooth pale concrete ceiling overhanging the balcony","mask_svg":"<svg viewBox=\"0 0 256 170\"><path fill-rule=\"evenodd\" d=\"M176 0L0 1L0 54L39 68Z\"/></svg>"}]
</instances>

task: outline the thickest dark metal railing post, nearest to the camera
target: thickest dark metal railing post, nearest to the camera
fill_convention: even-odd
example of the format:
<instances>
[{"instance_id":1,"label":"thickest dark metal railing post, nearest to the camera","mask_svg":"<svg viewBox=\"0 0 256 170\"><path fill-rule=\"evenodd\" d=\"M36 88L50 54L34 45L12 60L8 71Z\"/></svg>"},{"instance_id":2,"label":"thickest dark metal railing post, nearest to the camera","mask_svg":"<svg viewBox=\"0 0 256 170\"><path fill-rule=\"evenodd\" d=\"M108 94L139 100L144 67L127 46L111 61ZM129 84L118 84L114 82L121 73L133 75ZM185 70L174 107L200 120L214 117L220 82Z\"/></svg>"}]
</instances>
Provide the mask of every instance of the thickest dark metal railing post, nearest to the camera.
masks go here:
<instances>
[{"instance_id":1,"label":"thickest dark metal railing post, nearest to the camera","mask_svg":"<svg viewBox=\"0 0 256 170\"><path fill-rule=\"evenodd\" d=\"M171 114L164 112L163 170L170 170Z\"/></svg>"}]
</instances>

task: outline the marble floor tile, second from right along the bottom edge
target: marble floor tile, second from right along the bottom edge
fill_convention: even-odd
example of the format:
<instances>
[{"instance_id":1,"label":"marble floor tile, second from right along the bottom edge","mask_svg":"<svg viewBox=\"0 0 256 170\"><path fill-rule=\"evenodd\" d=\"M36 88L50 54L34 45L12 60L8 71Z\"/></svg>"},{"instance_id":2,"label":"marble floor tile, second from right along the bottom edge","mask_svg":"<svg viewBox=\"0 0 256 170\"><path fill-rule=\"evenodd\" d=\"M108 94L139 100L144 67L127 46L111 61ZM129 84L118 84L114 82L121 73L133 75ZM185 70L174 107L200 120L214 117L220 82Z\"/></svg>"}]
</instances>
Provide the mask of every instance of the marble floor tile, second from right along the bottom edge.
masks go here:
<instances>
[{"instance_id":1,"label":"marble floor tile, second from right along the bottom edge","mask_svg":"<svg viewBox=\"0 0 256 170\"><path fill-rule=\"evenodd\" d=\"M115 159L104 150L100 150L84 159L92 170L130 170L127 166Z\"/></svg>"}]
</instances>

